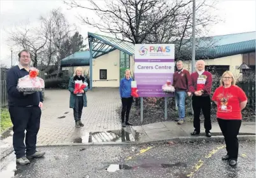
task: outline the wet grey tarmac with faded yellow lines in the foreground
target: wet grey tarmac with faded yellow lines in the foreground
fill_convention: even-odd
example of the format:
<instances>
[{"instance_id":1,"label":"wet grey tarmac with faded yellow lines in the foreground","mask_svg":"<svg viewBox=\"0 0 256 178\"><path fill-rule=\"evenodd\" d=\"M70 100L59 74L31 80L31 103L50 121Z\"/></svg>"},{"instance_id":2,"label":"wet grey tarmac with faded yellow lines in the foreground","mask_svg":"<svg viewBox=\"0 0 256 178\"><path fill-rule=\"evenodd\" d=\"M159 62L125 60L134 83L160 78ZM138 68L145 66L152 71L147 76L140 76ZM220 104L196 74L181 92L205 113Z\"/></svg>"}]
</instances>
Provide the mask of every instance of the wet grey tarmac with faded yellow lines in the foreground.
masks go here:
<instances>
[{"instance_id":1,"label":"wet grey tarmac with faded yellow lines in the foreground","mask_svg":"<svg viewBox=\"0 0 256 178\"><path fill-rule=\"evenodd\" d=\"M255 177L255 142L240 142L238 165L220 158L222 143L130 146L40 147L44 158L16 165L12 153L1 161L0 177Z\"/></svg>"}]
</instances>

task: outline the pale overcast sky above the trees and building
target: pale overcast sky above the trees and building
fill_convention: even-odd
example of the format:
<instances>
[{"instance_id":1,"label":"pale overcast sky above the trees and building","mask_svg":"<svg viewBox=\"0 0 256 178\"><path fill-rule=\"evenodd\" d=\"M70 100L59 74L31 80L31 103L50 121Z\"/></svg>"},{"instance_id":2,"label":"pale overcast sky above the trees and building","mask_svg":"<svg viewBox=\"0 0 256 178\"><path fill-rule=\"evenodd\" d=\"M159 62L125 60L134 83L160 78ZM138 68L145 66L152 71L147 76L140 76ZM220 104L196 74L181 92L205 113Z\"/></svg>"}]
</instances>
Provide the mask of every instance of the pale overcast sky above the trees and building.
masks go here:
<instances>
[{"instance_id":1,"label":"pale overcast sky above the trees and building","mask_svg":"<svg viewBox=\"0 0 256 178\"><path fill-rule=\"evenodd\" d=\"M104 3L104 1L102 2ZM87 1L82 1L82 3L86 4ZM82 25L80 20L76 18L78 13L80 15L87 14L87 10L68 10L68 6L66 6L63 1L1 0L0 6L0 60L2 63L7 65L11 64L11 50L10 46L6 42L6 39L8 38L6 31L10 31L15 27L15 25L20 26L21 23L25 24L25 22L29 22L31 26L36 25L39 21L39 16L46 16L53 8L60 7L62 12L66 15L69 23L75 24L77 30L84 38L87 36L88 31L100 33L97 29L89 29L86 25ZM217 4L217 9L218 12L212 13L215 15L217 14L222 20L224 20L224 22L220 22L219 24L213 26L209 33L210 36L255 31L255 0L220 0L220 2ZM14 64L17 64L17 53L13 53L13 61Z\"/></svg>"}]
</instances>

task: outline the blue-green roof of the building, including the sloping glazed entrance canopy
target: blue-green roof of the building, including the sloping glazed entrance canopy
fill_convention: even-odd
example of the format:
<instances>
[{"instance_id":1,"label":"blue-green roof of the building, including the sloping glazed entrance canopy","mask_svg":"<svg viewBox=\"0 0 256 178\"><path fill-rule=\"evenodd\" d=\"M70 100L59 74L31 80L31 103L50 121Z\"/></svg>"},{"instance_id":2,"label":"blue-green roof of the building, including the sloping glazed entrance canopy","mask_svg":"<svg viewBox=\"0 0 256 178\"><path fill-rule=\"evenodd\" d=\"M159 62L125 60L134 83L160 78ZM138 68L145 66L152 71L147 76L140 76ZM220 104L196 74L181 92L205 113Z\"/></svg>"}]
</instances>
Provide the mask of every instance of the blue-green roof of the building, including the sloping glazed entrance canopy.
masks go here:
<instances>
[{"instance_id":1,"label":"blue-green roof of the building, including the sloping glazed entrance canopy","mask_svg":"<svg viewBox=\"0 0 256 178\"><path fill-rule=\"evenodd\" d=\"M113 50L120 50L129 55L134 54L134 44L120 39L94 33L88 33L94 39L92 43L93 58L100 57ZM220 58L255 51L255 32L211 36L199 39L196 58ZM211 44L210 48L207 48ZM190 44L188 44L190 45ZM61 66L90 65L90 51L79 51L61 60Z\"/></svg>"}]
</instances>

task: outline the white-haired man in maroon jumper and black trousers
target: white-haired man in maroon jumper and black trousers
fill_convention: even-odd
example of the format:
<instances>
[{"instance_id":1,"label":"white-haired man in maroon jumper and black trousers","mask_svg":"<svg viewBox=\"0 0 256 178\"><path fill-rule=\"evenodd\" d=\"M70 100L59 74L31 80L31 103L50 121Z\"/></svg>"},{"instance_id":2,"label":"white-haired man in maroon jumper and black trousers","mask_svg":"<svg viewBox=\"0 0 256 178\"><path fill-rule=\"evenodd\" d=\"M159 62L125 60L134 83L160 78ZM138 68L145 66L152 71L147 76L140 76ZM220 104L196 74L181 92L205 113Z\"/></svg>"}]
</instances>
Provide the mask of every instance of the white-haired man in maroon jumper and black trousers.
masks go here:
<instances>
[{"instance_id":1,"label":"white-haired man in maroon jumper and black trousers","mask_svg":"<svg viewBox=\"0 0 256 178\"><path fill-rule=\"evenodd\" d=\"M196 62L197 71L190 75L189 91L192 96L192 107L194 110L194 132L191 135L200 134L200 113L204 114L204 128L206 137L211 137L211 86L212 76L208 71L204 71L205 63L203 60ZM203 88L198 88L197 83L203 84Z\"/></svg>"}]
</instances>

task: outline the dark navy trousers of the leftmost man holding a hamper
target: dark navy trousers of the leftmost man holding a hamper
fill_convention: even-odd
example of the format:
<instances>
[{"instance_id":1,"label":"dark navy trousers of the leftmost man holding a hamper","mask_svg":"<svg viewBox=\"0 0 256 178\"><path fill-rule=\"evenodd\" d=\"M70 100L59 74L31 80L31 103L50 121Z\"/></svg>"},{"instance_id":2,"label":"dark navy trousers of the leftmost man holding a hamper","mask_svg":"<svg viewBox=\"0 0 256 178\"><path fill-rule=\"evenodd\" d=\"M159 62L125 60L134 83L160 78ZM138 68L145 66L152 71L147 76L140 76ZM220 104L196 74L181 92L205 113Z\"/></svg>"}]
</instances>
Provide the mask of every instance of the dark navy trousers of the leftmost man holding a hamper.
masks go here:
<instances>
[{"instance_id":1,"label":"dark navy trousers of the leftmost man holding a hamper","mask_svg":"<svg viewBox=\"0 0 256 178\"><path fill-rule=\"evenodd\" d=\"M41 118L40 107L10 106L9 113L13 123L13 149L16 158L22 158L25 154L31 156L36 153L36 139Z\"/></svg>"}]
</instances>

